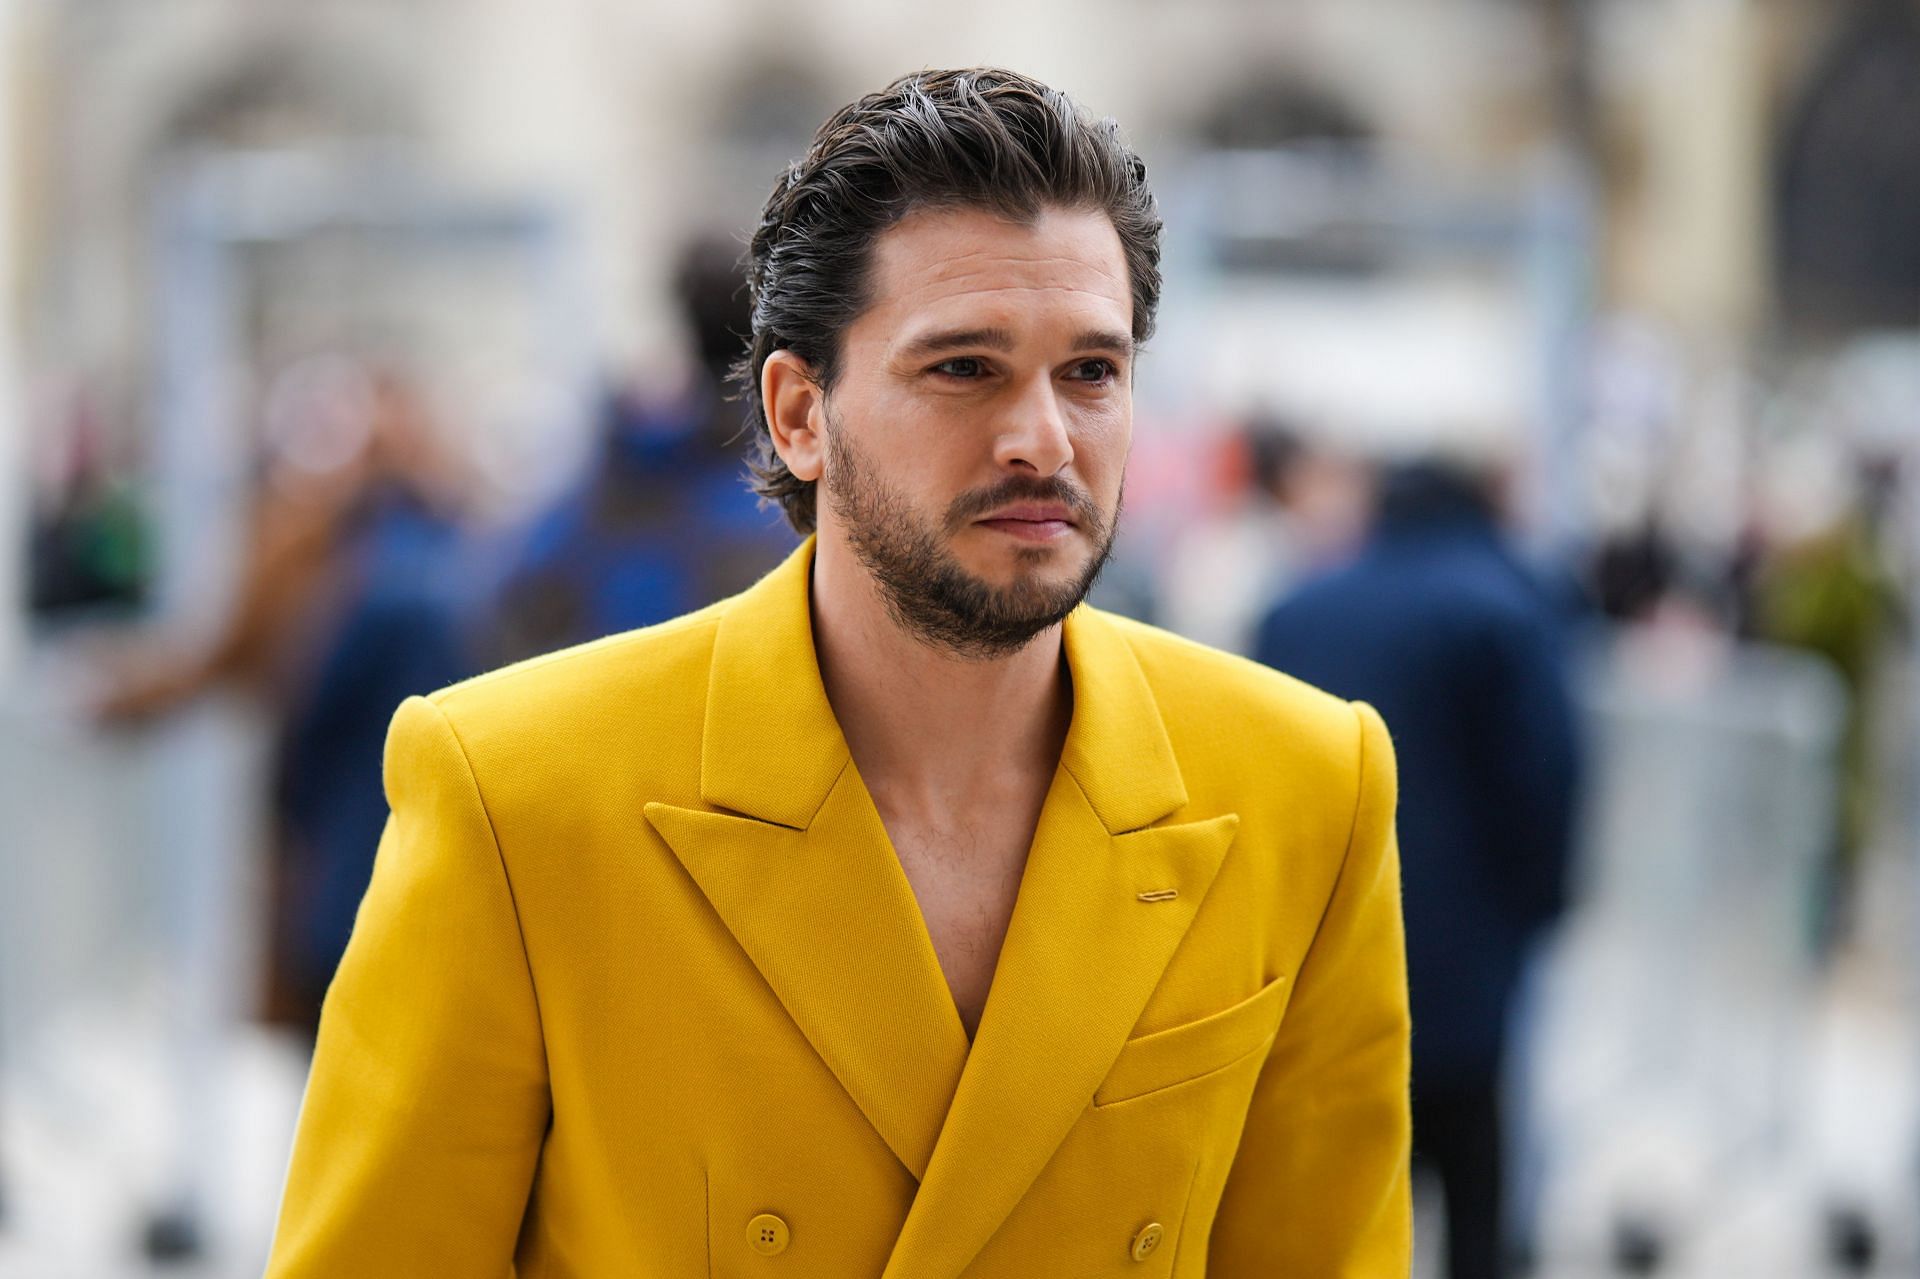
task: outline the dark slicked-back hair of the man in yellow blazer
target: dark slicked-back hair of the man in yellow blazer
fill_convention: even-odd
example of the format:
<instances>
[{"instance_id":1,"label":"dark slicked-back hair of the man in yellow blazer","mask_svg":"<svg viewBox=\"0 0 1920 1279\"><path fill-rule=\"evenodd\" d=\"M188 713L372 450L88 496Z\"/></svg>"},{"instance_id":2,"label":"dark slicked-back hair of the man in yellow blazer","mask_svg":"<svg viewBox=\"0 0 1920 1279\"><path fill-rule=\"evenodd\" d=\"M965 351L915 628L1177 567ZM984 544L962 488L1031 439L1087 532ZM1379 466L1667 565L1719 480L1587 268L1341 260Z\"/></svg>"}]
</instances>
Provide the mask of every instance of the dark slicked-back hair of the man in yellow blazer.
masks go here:
<instances>
[{"instance_id":1,"label":"dark slicked-back hair of the man in yellow blazer","mask_svg":"<svg viewBox=\"0 0 1920 1279\"><path fill-rule=\"evenodd\" d=\"M803 534L814 530L814 482L774 451L760 369L789 350L831 390L847 326L872 302L874 242L924 207L979 207L1020 223L1050 207L1106 213L1127 257L1135 344L1154 330L1160 211L1146 165L1112 119L995 67L916 71L841 108L760 211L747 252L753 338L733 369L753 488Z\"/></svg>"}]
</instances>

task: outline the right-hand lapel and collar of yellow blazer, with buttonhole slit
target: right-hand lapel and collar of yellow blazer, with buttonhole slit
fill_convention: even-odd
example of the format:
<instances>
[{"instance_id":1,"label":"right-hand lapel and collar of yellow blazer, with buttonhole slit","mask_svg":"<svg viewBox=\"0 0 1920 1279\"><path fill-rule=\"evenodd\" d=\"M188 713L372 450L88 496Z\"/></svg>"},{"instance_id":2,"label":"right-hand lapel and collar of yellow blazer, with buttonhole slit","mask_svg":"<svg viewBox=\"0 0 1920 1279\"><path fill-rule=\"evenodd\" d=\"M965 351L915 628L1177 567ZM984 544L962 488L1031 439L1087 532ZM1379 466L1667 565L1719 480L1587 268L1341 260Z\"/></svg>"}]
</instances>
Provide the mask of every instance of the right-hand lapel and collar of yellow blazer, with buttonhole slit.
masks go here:
<instances>
[{"instance_id":1,"label":"right-hand lapel and collar of yellow blazer, with buttonhole slit","mask_svg":"<svg viewBox=\"0 0 1920 1279\"><path fill-rule=\"evenodd\" d=\"M1073 726L887 1279L954 1279L1000 1227L1085 1114L1238 828L1231 812L1144 828L1187 803L1152 691L1098 615L1075 613L1066 641Z\"/></svg>"}]
</instances>

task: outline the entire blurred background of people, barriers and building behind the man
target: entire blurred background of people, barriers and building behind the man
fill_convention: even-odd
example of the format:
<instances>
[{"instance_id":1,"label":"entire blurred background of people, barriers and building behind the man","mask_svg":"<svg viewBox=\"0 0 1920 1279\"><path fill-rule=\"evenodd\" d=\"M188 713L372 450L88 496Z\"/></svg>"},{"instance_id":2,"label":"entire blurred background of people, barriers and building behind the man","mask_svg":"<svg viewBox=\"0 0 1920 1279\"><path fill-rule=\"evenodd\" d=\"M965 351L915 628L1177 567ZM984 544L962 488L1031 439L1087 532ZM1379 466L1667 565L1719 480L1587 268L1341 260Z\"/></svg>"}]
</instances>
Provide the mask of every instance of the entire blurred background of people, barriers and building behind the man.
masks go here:
<instances>
[{"instance_id":1,"label":"entire blurred background of people, barriers and building behind the man","mask_svg":"<svg viewBox=\"0 0 1920 1279\"><path fill-rule=\"evenodd\" d=\"M0 1277L259 1273L388 714L793 545L743 234L966 63L1164 205L1098 601L1394 726L1417 1273L1920 1271L1920 0L0 0Z\"/></svg>"}]
</instances>

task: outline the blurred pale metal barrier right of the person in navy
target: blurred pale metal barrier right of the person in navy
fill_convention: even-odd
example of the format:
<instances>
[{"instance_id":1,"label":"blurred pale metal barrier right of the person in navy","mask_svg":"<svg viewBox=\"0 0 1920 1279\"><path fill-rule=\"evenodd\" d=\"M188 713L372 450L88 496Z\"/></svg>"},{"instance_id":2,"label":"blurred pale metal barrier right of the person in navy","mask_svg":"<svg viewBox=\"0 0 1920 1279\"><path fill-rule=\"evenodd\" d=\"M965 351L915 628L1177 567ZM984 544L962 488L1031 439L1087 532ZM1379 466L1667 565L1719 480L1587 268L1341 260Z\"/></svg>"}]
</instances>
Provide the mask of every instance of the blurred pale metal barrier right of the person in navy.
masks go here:
<instances>
[{"instance_id":1,"label":"blurred pale metal barrier right of the person in navy","mask_svg":"<svg viewBox=\"0 0 1920 1279\"><path fill-rule=\"evenodd\" d=\"M1789 1160L1845 691L1803 653L1622 632L1580 701L1576 905L1517 1070L1523 1216L1546 1256L1649 1271Z\"/></svg>"}]
</instances>

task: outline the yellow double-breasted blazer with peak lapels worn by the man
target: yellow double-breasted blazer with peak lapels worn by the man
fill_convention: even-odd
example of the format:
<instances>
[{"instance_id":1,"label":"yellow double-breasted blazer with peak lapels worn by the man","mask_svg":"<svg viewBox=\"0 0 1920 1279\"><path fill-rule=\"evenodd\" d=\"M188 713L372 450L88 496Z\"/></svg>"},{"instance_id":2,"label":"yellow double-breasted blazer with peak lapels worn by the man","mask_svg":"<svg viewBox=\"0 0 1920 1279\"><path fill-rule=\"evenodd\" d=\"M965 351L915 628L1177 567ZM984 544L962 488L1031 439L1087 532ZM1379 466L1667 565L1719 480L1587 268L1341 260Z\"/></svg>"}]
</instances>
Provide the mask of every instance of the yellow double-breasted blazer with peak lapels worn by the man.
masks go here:
<instances>
[{"instance_id":1,"label":"yellow double-breasted blazer with peak lapels worn by the man","mask_svg":"<svg viewBox=\"0 0 1920 1279\"><path fill-rule=\"evenodd\" d=\"M269 1275L1407 1275L1379 716L1075 611L970 1045L810 565L399 709Z\"/></svg>"}]
</instances>

